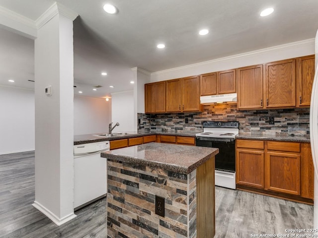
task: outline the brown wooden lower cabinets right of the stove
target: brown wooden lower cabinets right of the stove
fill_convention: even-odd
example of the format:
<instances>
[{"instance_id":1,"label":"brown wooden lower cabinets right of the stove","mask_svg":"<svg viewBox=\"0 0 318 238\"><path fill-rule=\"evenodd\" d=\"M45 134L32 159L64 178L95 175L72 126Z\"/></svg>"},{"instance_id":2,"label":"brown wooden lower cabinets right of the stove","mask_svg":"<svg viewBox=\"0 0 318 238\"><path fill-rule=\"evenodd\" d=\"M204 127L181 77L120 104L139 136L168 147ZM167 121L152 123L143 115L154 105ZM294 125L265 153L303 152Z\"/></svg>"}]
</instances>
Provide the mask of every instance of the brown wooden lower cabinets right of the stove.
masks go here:
<instances>
[{"instance_id":1,"label":"brown wooden lower cabinets right of the stove","mask_svg":"<svg viewBox=\"0 0 318 238\"><path fill-rule=\"evenodd\" d=\"M239 189L313 202L310 143L241 139L236 143Z\"/></svg>"}]
</instances>

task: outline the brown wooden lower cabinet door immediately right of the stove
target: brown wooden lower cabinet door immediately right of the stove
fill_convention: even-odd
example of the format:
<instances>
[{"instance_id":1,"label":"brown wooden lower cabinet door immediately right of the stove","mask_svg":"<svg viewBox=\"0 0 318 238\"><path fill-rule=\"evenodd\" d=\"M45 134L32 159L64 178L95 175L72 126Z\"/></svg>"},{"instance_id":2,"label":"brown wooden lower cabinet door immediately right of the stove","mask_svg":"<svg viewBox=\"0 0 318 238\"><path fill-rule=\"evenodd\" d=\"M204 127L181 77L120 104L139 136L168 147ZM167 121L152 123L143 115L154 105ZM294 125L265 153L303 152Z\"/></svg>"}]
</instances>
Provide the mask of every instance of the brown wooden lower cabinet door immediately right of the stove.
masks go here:
<instances>
[{"instance_id":1,"label":"brown wooden lower cabinet door immediately right of the stove","mask_svg":"<svg viewBox=\"0 0 318 238\"><path fill-rule=\"evenodd\" d=\"M237 149L237 183L264 188L264 152Z\"/></svg>"}]
</instances>

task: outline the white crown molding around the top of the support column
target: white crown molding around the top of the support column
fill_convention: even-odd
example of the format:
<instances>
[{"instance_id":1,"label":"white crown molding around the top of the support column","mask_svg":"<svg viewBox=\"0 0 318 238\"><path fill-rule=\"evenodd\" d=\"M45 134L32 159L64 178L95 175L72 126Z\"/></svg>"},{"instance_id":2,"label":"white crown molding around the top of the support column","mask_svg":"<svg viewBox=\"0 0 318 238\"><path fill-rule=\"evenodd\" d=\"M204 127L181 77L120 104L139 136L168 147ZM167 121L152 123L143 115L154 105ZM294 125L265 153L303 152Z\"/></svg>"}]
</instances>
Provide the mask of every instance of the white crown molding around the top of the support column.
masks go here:
<instances>
[{"instance_id":1,"label":"white crown molding around the top of the support column","mask_svg":"<svg viewBox=\"0 0 318 238\"><path fill-rule=\"evenodd\" d=\"M40 29L48 21L50 21L57 14L62 14L63 16L71 19L72 21L79 15L77 12L67 8L59 2L54 2L38 19L35 20L35 25L37 29Z\"/></svg>"}]
</instances>

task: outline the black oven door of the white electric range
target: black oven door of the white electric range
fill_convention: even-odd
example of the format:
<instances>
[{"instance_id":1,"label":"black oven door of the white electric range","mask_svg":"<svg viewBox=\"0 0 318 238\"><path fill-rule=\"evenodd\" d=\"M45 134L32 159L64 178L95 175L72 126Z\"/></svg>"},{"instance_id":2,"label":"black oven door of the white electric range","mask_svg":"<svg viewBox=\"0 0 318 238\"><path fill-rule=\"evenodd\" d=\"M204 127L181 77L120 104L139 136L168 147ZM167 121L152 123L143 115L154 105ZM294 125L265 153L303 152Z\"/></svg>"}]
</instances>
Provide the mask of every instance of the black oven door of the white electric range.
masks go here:
<instances>
[{"instance_id":1,"label":"black oven door of the white electric range","mask_svg":"<svg viewBox=\"0 0 318 238\"><path fill-rule=\"evenodd\" d=\"M235 172L235 139L196 137L196 146L213 147L219 149L215 156L215 169Z\"/></svg>"}]
</instances>

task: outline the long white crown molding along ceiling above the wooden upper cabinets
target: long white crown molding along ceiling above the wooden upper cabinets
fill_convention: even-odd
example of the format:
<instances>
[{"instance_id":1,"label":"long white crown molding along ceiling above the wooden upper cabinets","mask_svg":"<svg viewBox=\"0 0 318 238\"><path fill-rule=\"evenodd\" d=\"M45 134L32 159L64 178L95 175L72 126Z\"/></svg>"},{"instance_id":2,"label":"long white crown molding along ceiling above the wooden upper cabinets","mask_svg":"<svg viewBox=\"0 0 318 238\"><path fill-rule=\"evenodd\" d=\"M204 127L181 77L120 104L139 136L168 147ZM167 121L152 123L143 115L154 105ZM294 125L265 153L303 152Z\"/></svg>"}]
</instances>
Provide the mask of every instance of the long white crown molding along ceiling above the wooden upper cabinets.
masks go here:
<instances>
[{"instance_id":1,"label":"long white crown molding along ceiling above the wooden upper cabinets","mask_svg":"<svg viewBox=\"0 0 318 238\"><path fill-rule=\"evenodd\" d=\"M201 66L201 65L205 65L205 64L216 63L216 62L234 60L234 59L237 59L237 58L242 59L242 58L245 58L245 57L262 55L262 54L267 53L267 52L279 52L282 49L297 48L297 47L302 47L302 46L308 45L308 44L315 44L315 38L307 39L307 40L303 40L303 41L292 42L292 43L279 45L279 46L268 47L268 48L264 48L264 49L261 49L261 50L250 51L250 52L246 52L246 53L242 53L242 54L238 54L238 55L233 55L233 56L228 56L228 57L223 57L223 58L219 58L219 59L215 59L215 60L208 60L208 61L203 61L203 62L199 62L199 63L183 65L183 66L180 66L180 67L164 69L164 70L161 70L161 71L153 72L153 73L151 73L151 75L157 75L157 74L161 74L161 73L166 73L166 72L171 72L171 71L175 71L175 70L191 68L191 67Z\"/></svg>"}]
</instances>

